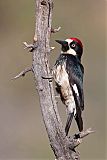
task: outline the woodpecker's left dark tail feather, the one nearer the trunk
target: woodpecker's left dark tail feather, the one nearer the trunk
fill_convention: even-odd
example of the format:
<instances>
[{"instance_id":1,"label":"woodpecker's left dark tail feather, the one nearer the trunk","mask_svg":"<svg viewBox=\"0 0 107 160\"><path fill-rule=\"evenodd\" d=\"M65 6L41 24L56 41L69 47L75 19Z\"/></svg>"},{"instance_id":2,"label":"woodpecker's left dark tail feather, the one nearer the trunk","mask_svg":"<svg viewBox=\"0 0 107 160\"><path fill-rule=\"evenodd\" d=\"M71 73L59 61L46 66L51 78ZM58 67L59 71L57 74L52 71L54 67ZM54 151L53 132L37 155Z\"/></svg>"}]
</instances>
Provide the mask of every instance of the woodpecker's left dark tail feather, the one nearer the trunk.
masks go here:
<instances>
[{"instance_id":1,"label":"woodpecker's left dark tail feather, the one nearer the trunk","mask_svg":"<svg viewBox=\"0 0 107 160\"><path fill-rule=\"evenodd\" d=\"M68 135L68 132L69 132L69 129L70 129L70 126L71 126L71 123L72 123L73 116L74 116L74 112L68 114L67 122L66 122L66 126L65 126L66 136Z\"/></svg>"}]
</instances>

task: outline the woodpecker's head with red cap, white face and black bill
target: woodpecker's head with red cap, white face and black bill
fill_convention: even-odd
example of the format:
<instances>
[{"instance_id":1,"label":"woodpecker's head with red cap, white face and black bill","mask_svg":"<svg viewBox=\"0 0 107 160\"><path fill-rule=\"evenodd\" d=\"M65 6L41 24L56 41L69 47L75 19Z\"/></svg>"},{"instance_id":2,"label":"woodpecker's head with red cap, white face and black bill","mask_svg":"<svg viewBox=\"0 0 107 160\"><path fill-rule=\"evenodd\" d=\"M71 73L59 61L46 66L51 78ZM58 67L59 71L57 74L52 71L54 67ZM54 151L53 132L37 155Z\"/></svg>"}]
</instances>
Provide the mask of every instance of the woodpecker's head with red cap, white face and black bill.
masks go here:
<instances>
[{"instance_id":1,"label":"woodpecker's head with red cap, white face and black bill","mask_svg":"<svg viewBox=\"0 0 107 160\"><path fill-rule=\"evenodd\" d=\"M81 59L83 53L82 42L78 38L69 38L66 40L56 40L62 45L62 53L72 54Z\"/></svg>"}]
</instances>

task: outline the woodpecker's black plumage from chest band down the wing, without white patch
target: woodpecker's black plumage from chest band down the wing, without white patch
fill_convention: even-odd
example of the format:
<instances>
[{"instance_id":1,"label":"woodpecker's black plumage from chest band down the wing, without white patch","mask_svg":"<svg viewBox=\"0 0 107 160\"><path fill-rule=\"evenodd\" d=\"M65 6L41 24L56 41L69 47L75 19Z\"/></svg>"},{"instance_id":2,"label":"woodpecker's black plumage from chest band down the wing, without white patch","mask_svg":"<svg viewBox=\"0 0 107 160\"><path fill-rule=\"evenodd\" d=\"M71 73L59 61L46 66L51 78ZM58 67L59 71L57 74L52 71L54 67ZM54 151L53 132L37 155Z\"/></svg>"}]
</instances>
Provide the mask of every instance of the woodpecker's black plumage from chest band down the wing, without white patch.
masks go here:
<instances>
[{"instance_id":1,"label":"woodpecker's black plumage from chest band down the wing, without white patch","mask_svg":"<svg viewBox=\"0 0 107 160\"><path fill-rule=\"evenodd\" d=\"M78 57L71 54L61 54L55 63L57 65L63 65L66 62L66 72L68 73L69 83L72 88L76 84L79 96L74 94L74 99L78 107L81 110L84 109L84 93L83 93L83 75L84 68ZM74 92L74 91L73 91Z\"/></svg>"}]
</instances>

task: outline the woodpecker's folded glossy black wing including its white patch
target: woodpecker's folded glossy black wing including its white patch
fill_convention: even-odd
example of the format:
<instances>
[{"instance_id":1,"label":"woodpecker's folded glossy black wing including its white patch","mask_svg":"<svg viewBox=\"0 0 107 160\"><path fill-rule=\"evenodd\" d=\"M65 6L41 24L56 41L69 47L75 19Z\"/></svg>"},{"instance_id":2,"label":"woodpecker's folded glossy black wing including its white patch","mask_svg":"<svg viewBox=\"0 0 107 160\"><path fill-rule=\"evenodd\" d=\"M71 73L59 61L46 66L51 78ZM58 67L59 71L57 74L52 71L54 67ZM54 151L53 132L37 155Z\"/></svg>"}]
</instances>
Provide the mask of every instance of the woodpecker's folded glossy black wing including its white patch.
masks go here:
<instances>
[{"instance_id":1,"label":"woodpecker's folded glossy black wing including its white patch","mask_svg":"<svg viewBox=\"0 0 107 160\"><path fill-rule=\"evenodd\" d=\"M66 70L69 83L73 91L76 106L84 110L83 75L84 68L81 62L73 55L67 56Z\"/></svg>"}]
</instances>

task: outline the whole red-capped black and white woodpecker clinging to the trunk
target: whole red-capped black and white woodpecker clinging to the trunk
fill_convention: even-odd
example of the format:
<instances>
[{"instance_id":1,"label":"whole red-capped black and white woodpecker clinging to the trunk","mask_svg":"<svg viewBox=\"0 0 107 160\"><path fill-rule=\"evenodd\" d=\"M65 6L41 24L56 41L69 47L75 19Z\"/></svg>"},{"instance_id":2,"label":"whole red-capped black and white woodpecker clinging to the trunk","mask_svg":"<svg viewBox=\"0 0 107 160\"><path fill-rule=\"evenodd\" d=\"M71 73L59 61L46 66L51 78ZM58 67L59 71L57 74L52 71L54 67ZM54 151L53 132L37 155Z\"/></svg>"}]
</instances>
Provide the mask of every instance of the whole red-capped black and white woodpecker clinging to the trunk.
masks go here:
<instances>
[{"instance_id":1,"label":"whole red-capped black and white woodpecker clinging to the trunk","mask_svg":"<svg viewBox=\"0 0 107 160\"><path fill-rule=\"evenodd\" d=\"M79 131L83 130L82 111L84 110L83 74L81 64L83 53L82 42L78 38L56 40L61 44L61 54L53 67L53 77L56 91L67 108L67 122L65 126L68 135L73 117Z\"/></svg>"}]
</instances>

